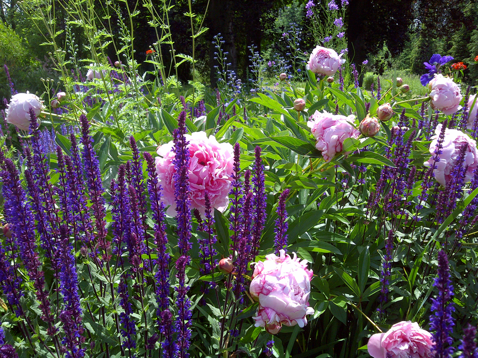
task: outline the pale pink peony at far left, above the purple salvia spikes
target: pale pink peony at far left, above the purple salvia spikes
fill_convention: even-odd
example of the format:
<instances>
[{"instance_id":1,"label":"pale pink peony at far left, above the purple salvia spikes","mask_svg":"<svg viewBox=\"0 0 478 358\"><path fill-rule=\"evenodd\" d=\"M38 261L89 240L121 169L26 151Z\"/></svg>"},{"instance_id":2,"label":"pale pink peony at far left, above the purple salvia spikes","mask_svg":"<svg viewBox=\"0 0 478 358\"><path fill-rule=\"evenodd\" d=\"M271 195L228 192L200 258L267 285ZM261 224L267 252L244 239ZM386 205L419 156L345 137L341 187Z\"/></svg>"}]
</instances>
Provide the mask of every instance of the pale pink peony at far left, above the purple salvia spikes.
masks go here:
<instances>
[{"instance_id":1,"label":"pale pink peony at far left, above the purple salvia spikes","mask_svg":"<svg viewBox=\"0 0 478 358\"><path fill-rule=\"evenodd\" d=\"M30 127L30 108L33 108L35 116L41 112L43 101L32 93L18 93L10 99L6 109L7 122L15 125L18 129L28 130Z\"/></svg>"}]
</instances>

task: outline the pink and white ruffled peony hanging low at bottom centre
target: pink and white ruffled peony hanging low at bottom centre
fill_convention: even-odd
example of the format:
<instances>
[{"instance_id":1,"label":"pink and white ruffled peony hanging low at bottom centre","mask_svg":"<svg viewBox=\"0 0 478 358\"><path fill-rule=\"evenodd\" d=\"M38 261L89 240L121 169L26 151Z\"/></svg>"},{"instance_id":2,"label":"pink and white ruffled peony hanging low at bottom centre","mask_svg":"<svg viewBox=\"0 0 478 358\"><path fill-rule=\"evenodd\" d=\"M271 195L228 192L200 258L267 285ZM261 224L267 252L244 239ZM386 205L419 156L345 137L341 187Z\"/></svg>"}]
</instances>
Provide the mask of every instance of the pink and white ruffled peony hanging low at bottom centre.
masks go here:
<instances>
[{"instance_id":1,"label":"pink and white ruffled peony hanging low at bottom centre","mask_svg":"<svg viewBox=\"0 0 478 358\"><path fill-rule=\"evenodd\" d=\"M282 325L304 327L306 315L314 314L309 307L310 280L312 270L307 270L307 261L291 258L284 250L280 256L267 255L254 268L249 292L259 302L256 327L265 327L272 334L280 331Z\"/></svg>"}]
</instances>

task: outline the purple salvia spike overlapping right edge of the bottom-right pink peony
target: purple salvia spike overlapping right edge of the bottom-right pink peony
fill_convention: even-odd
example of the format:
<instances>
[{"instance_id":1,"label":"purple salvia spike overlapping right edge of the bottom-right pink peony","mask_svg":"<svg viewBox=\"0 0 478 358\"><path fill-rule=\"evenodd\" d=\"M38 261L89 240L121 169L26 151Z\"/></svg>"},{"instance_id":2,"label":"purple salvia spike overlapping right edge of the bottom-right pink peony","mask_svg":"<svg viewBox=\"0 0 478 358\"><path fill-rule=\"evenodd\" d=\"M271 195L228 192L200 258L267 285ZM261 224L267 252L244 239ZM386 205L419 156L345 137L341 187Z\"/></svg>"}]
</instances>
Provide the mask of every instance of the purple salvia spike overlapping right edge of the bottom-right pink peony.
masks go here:
<instances>
[{"instance_id":1,"label":"purple salvia spike overlapping right edge of the bottom-right pink peony","mask_svg":"<svg viewBox=\"0 0 478 358\"><path fill-rule=\"evenodd\" d=\"M438 253L438 277L433 286L438 289L437 298L431 300L430 331L433 336L435 358L449 358L454 352L453 339L450 334L455 325L452 312L455 310L452 303L453 286L450 278L450 266L445 251Z\"/></svg>"}]
</instances>

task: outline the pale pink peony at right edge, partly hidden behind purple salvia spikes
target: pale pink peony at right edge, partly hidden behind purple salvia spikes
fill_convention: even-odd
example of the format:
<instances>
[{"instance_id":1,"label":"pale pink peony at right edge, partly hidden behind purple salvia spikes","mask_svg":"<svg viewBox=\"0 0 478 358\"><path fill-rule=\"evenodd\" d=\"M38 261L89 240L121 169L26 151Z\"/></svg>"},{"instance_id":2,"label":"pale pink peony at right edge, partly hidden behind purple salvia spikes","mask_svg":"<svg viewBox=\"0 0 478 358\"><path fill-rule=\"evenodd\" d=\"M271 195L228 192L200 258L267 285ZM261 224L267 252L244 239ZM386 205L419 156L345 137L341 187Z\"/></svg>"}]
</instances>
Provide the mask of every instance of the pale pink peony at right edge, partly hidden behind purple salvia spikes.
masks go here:
<instances>
[{"instance_id":1,"label":"pale pink peony at right edge, partly hidden behind purple salvia spikes","mask_svg":"<svg viewBox=\"0 0 478 358\"><path fill-rule=\"evenodd\" d=\"M428 161L424 163L426 167L430 167L433 164L433 156L435 156L435 150L438 144L438 136L442 131L442 124L440 123L437 128L435 128L435 135L431 137L432 142L430 143L430 154L431 157ZM440 154L440 161L435 165L436 169L433 170L435 174L435 179L443 185L446 186L451 180L450 172L453 168L456 158L458 157L459 150L461 146L467 143L468 149L465 153L465 162L464 166L467 166L465 174L465 182L469 182L473 177L473 171L478 168L478 151L476 150L476 141L468 137L468 135L458 129L445 129L445 139L442 143L442 153Z\"/></svg>"}]
</instances>

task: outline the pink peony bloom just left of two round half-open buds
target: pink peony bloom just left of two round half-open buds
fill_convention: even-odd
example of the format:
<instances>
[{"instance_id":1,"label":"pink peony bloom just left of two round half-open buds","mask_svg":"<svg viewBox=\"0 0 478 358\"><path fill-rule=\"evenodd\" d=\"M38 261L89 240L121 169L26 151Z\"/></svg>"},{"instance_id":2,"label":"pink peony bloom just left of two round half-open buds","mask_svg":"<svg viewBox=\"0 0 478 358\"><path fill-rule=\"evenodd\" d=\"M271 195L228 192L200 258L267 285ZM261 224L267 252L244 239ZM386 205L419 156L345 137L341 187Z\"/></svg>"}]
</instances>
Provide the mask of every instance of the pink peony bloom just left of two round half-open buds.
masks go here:
<instances>
[{"instance_id":1,"label":"pink peony bloom just left of two round half-open buds","mask_svg":"<svg viewBox=\"0 0 478 358\"><path fill-rule=\"evenodd\" d=\"M309 117L307 126L317 139L316 148L322 151L326 161L330 161L343 148L347 138L358 138L360 132L352 125L355 116L332 115L324 112Z\"/></svg>"}]
</instances>

